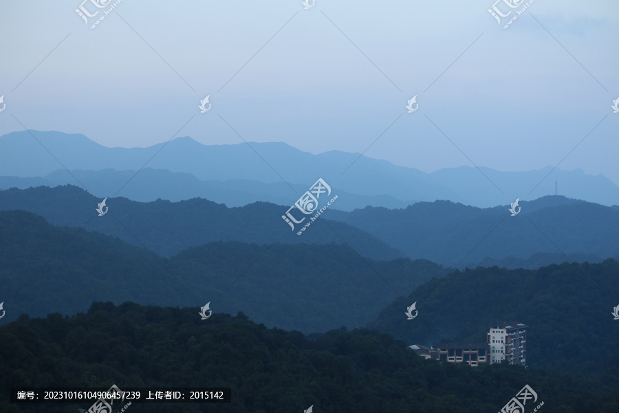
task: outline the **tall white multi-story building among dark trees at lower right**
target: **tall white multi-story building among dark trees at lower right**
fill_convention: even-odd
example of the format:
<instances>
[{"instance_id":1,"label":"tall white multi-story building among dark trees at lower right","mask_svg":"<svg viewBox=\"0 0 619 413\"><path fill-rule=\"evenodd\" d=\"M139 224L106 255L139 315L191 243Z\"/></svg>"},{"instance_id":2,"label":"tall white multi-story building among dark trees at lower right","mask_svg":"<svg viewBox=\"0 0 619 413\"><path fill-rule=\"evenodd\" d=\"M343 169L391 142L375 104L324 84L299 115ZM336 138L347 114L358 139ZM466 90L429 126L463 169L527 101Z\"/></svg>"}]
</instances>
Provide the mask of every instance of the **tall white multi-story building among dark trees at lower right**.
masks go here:
<instances>
[{"instance_id":1,"label":"tall white multi-story building among dark trees at lower right","mask_svg":"<svg viewBox=\"0 0 619 413\"><path fill-rule=\"evenodd\" d=\"M507 360L510 364L527 365L527 328L521 323L504 323L488 329L490 363Z\"/></svg>"}]
</instances>

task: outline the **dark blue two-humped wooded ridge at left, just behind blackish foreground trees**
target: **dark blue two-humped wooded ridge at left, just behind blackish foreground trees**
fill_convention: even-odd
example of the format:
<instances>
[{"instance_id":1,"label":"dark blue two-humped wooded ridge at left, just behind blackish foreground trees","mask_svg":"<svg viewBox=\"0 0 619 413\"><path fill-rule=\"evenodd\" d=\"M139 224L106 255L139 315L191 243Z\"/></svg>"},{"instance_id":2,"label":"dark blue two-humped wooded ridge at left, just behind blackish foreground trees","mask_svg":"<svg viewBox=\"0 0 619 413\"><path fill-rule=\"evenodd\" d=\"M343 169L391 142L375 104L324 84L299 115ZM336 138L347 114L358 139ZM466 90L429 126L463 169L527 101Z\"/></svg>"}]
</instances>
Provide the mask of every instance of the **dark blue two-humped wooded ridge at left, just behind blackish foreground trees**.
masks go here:
<instances>
[{"instance_id":1,"label":"dark blue two-humped wooded ridge at left, just behind blackish foreground trees","mask_svg":"<svg viewBox=\"0 0 619 413\"><path fill-rule=\"evenodd\" d=\"M97 217L96 217L97 218ZM447 271L425 260L373 261L348 246L211 242L165 258L101 233L0 212L0 285L7 315L74 315L92 301L245 312L306 333L365 326L400 291Z\"/></svg>"}]
</instances>

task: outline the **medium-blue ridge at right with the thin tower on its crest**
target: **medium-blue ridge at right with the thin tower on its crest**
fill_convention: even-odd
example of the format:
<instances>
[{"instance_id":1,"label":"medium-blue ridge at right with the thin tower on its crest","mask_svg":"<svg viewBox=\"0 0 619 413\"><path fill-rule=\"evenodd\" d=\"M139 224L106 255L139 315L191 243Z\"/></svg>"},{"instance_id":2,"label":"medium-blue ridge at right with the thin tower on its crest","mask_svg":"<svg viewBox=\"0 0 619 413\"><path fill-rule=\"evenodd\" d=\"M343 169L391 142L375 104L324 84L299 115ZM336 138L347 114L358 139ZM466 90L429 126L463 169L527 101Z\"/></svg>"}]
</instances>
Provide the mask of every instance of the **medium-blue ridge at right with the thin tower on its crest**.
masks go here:
<instances>
[{"instance_id":1,"label":"medium-blue ridge at right with the thin tower on its crest","mask_svg":"<svg viewBox=\"0 0 619 413\"><path fill-rule=\"evenodd\" d=\"M540 253L558 254L558 262L567 260L565 255L605 260L619 253L616 208L555 195L520 202L520 207L512 217L508 207L435 201L406 209L327 211L325 218L356 226L413 260L423 257L455 268L497 260L504 264L508 257L526 260Z\"/></svg>"}]
</instances>

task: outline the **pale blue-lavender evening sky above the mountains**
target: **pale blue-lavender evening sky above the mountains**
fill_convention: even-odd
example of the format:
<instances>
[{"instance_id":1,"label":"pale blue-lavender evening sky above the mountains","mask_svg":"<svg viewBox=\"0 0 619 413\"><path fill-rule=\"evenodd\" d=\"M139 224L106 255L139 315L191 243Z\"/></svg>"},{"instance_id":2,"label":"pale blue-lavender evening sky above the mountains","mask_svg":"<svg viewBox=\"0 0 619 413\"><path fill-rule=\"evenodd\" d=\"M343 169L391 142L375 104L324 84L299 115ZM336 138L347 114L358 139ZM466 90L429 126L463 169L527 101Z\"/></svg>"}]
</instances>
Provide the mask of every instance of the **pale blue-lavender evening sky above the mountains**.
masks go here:
<instances>
[{"instance_id":1,"label":"pale blue-lavender evening sky above the mountains","mask_svg":"<svg viewBox=\"0 0 619 413\"><path fill-rule=\"evenodd\" d=\"M122 0L92 29L113 1L80 1L0 1L0 136L285 142L619 184L616 0L530 1L506 29L527 2Z\"/></svg>"}]
</instances>

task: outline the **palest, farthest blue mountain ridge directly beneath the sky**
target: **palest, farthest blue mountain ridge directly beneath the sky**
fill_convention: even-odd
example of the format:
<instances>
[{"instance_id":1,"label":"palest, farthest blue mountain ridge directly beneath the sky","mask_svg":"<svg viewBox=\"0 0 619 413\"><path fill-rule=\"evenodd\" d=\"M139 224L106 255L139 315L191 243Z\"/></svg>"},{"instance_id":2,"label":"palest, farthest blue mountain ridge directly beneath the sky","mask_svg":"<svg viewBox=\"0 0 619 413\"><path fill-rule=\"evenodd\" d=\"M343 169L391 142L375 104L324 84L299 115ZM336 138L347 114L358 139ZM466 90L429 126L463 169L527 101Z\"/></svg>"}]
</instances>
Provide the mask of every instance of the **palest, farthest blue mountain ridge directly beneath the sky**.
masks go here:
<instances>
[{"instance_id":1,"label":"palest, farthest blue mountain ridge directly beneath the sky","mask_svg":"<svg viewBox=\"0 0 619 413\"><path fill-rule=\"evenodd\" d=\"M424 173L357 153L329 151L313 155L283 142L205 146L189 137L180 137L151 147L124 149L103 147L83 135L58 131L19 131L0 137L0 176L43 177L61 168L58 162L69 171L137 171L146 166L189 173L202 181L254 180L273 184L283 183L283 179L292 187L302 188L323 178L343 193L389 197L384 201L382 198L347 201L343 207L348 210L365 207L367 202L375 206L398 207L398 202L412 204L434 200L493 207L508 204L516 198L525 200L526 194L532 190L532 198L552 194L554 180L558 181L559 193L569 198L603 205L619 204L616 184L602 175L585 175L580 169L562 171L545 167L537 171L500 172L485 167L479 167L479 170L458 167ZM61 183L69 182L64 180ZM152 185L157 183L151 182ZM234 186L230 190L237 191ZM119 195L134 199L131 191L126 191ZM298 196L295 198L296 194L290 188L286 191L290 192L283 196L290 196L292 204ZM231 205L244 202L241 201L243 196L247 198L248 194L235 198ZM251 194L249 199L260 200ZM270 198L267 201L277 202Z\"/></svg>"}]
</instances>

